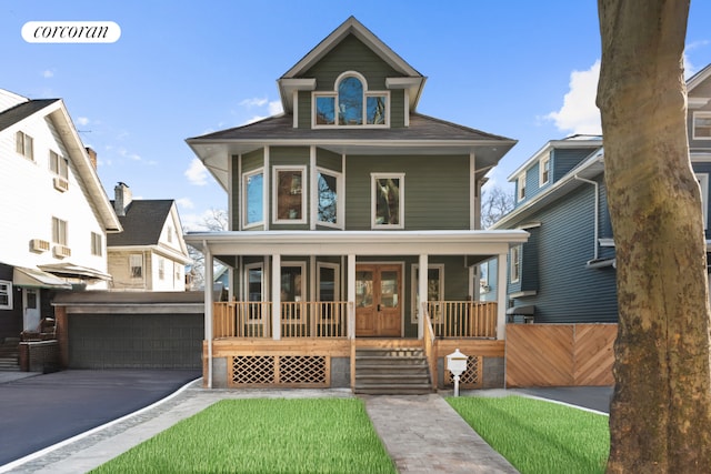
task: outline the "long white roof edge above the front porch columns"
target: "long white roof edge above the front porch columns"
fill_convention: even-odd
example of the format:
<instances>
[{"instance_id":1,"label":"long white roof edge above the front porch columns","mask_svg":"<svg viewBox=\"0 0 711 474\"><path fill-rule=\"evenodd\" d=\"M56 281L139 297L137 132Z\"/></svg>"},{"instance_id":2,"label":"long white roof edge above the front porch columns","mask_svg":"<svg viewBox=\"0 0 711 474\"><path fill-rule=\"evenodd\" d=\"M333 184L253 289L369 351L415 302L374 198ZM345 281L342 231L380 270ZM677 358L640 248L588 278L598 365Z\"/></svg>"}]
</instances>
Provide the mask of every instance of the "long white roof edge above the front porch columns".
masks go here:
<instances>
[{"instance_id":1,"label":"long white roof edge above the front porch columns","mask_svg":"<svg viewBox=\"0 0 711 474\"><path fill-rule=\"evenodd\" d=\"M502 231L242 231L190 232L186 242L212 255L495 255L527 242Z\"/></svg>"}]
</instances>

